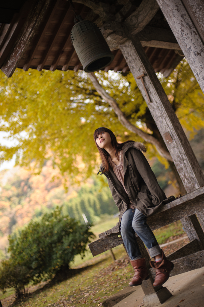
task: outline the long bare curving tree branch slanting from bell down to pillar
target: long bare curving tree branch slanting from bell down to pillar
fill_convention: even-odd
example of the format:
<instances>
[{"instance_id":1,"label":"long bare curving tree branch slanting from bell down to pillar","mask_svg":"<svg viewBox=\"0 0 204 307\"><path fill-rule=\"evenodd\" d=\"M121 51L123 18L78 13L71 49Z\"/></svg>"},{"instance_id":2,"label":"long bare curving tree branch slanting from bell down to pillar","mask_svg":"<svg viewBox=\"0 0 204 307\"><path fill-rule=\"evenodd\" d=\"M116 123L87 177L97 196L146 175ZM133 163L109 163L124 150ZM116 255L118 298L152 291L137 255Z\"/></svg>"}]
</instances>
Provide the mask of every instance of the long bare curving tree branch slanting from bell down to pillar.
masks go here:
<instances>
[{"instance_id":1,"label":"long bare curving tree branch slanting from bell down to pillar","mask_svg":"<svg viewBox=\"0 0 204 307\"><path fill-rule=\"evenodd\" d=\"M98 80L93 72L88 72L88 76L93 83L93 86L95 87L96 91L101 95L101 97L108 103L112 109L114 110L115 114L117 115L119 121L121 124L127 128L128 130L132 131L135 134L138 134L145 142L151 143L156 147L156 150L158 153L166 158L168 161L173 161L171 158L171 155L167 150L165 150L160 142L154 138L151 134L147 134L144 131L140 130L136 126L132 125L125 117L124 113L121 111L121 109L118 107L117 102L114 98L112 98L108 93L106 93L105 89L98 83Z\"/></svg>"}]
</instances>

